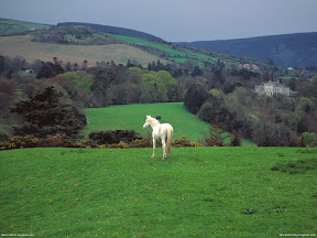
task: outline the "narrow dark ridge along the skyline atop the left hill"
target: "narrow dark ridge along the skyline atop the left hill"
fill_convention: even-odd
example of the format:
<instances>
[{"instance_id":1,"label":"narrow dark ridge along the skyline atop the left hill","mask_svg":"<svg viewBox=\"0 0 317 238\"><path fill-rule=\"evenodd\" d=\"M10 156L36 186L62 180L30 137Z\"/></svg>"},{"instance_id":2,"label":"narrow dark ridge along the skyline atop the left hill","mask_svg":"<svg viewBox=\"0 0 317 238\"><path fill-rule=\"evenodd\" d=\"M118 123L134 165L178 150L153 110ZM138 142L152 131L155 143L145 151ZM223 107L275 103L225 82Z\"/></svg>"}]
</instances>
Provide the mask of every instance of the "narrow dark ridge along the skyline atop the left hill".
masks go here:
<instances>
[{"instance_id":1,"label":"narrow dark ridge along the skyline atop the left hill","mask_svg":"<svg viewBox=\"0 0 317 238\"><path fill-rule=\"evenodd\" d=\"M145 40L155 41L155 42L164 42L162 39L157 36L154 36L144 32L131 30L131 29L124 29L124 28L116 28L116 26L101 25L101 24L90 24L90 23L83 23L83 22L64 22L64 23L57 24L57 26L77 26L77 25L89 26L96 31L101 31L101 32L111 33L111 34L145 39Z\"/></svg>"}]
</instances>

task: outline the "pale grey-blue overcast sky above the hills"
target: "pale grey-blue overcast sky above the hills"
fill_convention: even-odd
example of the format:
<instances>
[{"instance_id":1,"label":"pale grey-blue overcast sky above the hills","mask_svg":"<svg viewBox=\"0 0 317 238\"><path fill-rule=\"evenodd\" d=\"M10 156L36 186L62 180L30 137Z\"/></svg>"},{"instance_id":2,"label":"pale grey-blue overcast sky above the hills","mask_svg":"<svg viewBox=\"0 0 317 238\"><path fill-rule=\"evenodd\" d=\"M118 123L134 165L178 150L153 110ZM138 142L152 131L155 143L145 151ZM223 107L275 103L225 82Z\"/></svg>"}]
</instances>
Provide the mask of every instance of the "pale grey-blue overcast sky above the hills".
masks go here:
<instances>
[{"instance_id":1,"label":"pale grey-blue overcast sky above the hills","mask_svg":"<svg viewBox=\"0 0 317 238\"><path fill-rule=\"evenodd\" d=\"M317 0L0 0L0 18L128 28L170 42L317 32Z\"/></svg>"}]
</instances>

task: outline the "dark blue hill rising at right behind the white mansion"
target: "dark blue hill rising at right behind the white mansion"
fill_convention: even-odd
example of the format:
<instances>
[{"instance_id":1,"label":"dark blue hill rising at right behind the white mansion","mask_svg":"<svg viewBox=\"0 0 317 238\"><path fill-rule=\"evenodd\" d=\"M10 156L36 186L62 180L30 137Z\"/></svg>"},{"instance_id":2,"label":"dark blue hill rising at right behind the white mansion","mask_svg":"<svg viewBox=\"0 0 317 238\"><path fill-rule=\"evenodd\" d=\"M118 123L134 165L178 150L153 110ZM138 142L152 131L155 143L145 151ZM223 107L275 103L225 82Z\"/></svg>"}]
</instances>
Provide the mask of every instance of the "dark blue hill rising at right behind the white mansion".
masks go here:
<instances>
[{"instance_id":1,"label":"dark blue hill rising at right behind the white mansion","mask_svg":"<svg viewBox=\"0 0 317 238\"><path fill-rule=\"evenodd\" d=\"M179 42L176 44L225 53L236 57L247 55L259 61L271 58L275 65L282 66L317 65L317 32L223 41Z\"/></svg>"}]
</instances>

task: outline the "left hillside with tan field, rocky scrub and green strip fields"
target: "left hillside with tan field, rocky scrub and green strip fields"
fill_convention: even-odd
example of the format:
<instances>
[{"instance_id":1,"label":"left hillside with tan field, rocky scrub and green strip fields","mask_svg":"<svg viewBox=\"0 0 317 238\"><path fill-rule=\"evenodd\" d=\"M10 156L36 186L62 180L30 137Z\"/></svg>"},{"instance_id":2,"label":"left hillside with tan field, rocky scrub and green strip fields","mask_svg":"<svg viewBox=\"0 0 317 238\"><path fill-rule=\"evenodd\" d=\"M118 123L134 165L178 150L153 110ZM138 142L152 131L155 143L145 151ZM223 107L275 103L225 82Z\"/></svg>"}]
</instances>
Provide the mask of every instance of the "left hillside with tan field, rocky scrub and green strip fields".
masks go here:
<instances>
[{"instance_id":1,"label":"left hillside with tan field, rocky scrub and green strip fields","mask_svg":"<svg viewBox=\"0 0 317 238\"><path fill-rule=\"evenodd\" d=\"M4 28L14 28L17 21L0 20L0 26L2 24ZM20 21L19 24L30 25L33 23ZM205 65L215 64L218 60L227 61L209 51L186 48L163 40L160 41L158 37L153 39L155 36L150 34L144 33L145 36L143 36L152 40L141 39L143 33L136 34L133 30L130 31L136 34L136 37L119 34L118 28L110 26L112 30L117 29L117 34L113 34L92 29L91 24L74 24L76 26L59 24L59 26L47 25L46 29L40 24L36 30L30 31L25 28L25 31L14 34L3 34L0 36L0 55L8 55L11 58L19 55L28 62L36 58L52 61L53 57L57 57L63 62L78 65L81 65L84 61L88 61L89 65L94 65L97 61L127 64L130 60L135 65L146 66L149 63L160 60L162 64L186 64L189 71L193 71L195 66L205 67ZM230 61L233 60L230 58Z\"/></svg>"}]
</instances>

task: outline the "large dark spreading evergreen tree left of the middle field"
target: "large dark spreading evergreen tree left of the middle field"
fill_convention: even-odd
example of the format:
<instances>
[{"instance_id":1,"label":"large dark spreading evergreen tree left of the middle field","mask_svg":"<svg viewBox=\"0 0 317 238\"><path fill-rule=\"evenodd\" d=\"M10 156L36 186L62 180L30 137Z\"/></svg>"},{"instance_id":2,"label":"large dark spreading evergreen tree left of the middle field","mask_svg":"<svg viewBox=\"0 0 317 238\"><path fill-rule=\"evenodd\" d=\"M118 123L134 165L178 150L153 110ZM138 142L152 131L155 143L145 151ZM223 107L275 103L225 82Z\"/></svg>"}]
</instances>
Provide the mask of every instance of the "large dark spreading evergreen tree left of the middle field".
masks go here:
<instances>
[{"instance_id":1,"label":"large dark spreading evergreen tree left of the middle field","mask_svg":"<svg viewBox=\"0 0 317 238\"><path fill-rule=\"evenodd\" d=\"M86 117L73 106L61 102L61 97L62 94L51 86L17 102L11 112L20 115L23 123L14 127L15 134L44 138L61 133L75 137L85 127Z\"/></svg>"}]
</instances>

